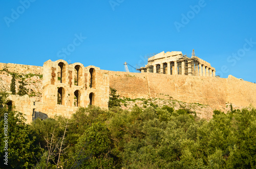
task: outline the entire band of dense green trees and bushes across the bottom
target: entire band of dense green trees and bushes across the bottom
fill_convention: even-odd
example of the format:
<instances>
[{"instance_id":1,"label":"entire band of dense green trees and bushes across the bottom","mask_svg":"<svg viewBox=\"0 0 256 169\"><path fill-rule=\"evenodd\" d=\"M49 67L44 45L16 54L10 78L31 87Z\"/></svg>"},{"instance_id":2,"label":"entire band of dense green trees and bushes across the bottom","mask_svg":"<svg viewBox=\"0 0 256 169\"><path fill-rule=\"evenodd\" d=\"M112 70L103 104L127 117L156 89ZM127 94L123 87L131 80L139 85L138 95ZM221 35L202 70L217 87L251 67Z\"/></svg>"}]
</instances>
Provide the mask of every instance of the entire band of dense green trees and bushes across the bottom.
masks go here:
<instances>
[{"instance_id":1,"label":"entire band of dense green trees and bushes across the bottom","mask_svg":"<svg viewBox=\"0 0 256 169\"><path fill-rule=\"evenodd\" d=\"M7 103L0 95L0 105ZM215 111L207 122L171 107L80 108L72 117L36 119L8 113L10 168L255 168L256 110Z\"/></svg>"}]
</instances>

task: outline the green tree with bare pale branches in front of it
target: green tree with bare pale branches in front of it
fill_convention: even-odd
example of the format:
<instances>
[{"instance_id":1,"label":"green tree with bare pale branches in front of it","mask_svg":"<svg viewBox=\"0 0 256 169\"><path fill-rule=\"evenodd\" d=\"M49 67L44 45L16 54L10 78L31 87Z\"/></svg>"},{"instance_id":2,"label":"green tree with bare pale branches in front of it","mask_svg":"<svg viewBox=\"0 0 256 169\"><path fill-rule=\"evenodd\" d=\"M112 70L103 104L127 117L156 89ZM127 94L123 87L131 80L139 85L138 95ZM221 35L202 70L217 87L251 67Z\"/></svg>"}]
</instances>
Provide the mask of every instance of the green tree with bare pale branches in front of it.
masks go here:
<instances>
[{"instance_id":1,"label":"green tree with bare pale branches in front of it","mask_svg":"<svg viewBox=\"0 0 256 169\"><path fill-rule=\"evenodd\" d=\"M57 168L67 161L67 147L70 144L66 141L69 129L69 118L55 116L41 120L37 118L31 125L36 143L42 148L40 158L35 168Z\"/></svg>"}]
</instances>

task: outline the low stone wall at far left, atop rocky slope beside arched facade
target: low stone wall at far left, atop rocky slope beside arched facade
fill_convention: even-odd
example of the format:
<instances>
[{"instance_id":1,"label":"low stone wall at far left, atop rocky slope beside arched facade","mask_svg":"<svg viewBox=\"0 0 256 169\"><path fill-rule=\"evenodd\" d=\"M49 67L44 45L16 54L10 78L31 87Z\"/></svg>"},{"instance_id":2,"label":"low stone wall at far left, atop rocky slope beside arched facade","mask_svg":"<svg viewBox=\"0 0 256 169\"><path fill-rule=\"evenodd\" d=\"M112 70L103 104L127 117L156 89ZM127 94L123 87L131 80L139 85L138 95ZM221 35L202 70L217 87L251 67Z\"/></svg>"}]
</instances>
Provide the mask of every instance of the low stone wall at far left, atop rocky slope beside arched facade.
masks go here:
<instances>
[{"instance_id":1,"label":"low stone wall at far left, atop rocky slope beside arched facade","mask_svg":"<svg viewBox=\"0 0 256 169\"><path fill-rule=\"evenodd\" d=\"M42 66L31 66L31 65L24 65L24 64L14 64L14 63L0 63L0 70L4 70L4 69L13 73L42 75Z\"/></svg>"}]
</instances>

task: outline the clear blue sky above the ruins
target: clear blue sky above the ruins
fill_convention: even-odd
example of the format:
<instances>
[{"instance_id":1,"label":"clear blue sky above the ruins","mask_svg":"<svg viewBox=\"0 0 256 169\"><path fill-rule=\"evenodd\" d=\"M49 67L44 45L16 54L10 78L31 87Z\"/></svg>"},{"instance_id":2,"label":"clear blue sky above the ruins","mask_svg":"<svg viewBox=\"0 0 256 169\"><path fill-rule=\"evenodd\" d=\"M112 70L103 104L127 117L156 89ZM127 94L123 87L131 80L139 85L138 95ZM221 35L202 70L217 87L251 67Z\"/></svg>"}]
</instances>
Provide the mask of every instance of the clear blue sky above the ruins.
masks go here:
<instances>
[{"instance_id":1,"label":"clear blue sky above the ruins","mask_svg":"<svg viewBox=\"0 0 256 169\"><path fill-rule=\"evenodd\" d=\"M135 67L151 53L191 56L195 49L217 75L254 83L255 7L253 0L2 0L0 62L42 66L65 59L123 71L125 61Z\"/></svg>"}]
</instances>

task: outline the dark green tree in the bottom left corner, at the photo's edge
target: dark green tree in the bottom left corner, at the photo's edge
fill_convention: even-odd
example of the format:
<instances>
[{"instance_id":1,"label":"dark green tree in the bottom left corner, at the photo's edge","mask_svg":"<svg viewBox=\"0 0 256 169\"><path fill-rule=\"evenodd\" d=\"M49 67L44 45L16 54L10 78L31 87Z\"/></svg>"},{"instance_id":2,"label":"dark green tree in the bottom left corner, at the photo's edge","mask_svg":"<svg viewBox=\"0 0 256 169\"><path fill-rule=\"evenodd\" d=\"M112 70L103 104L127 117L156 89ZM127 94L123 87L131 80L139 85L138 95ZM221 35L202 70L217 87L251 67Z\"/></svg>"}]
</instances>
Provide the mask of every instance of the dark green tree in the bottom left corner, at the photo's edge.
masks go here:
<instances>
[{"instance_id":1,"label":"dark green tree in the bottom left corner, at the photo's edge","mask_svg":"<svg viewBox=\"0 0 256 169\"><path fill-rule=\"evenodd\" d=\"M0 93L0 168L32 168L36 163L34 157L39 157L39 145L35 144L24 115L5 106L7 96ZM6 154L8 165L4 164Z\"/></svg>"}]
</instances>

